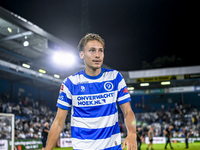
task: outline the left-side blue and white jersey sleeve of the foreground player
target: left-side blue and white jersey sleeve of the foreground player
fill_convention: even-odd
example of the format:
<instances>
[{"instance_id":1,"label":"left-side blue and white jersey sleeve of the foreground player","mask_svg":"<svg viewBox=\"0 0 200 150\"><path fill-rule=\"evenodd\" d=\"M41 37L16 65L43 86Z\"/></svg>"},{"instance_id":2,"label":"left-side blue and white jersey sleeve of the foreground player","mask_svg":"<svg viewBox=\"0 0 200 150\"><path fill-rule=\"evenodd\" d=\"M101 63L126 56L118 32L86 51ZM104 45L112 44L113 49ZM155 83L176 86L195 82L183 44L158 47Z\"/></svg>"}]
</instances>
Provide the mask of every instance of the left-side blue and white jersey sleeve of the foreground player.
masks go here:
<instances>
[{"instance_id":1,"label":"left-side blue and white jersey sleeve of the foreground player","mask_svg":"<svg viewBox=\"0 0 200 150\"><path fill-rule=\"evenodd\" d=\"M63 81L61 88L60 88L60 94L57 100L57 107L65 110L70 110L72 105L72 94L70 92L70 87L68 86L68 80L66 79Z\"/></svg>"}]
</instances>

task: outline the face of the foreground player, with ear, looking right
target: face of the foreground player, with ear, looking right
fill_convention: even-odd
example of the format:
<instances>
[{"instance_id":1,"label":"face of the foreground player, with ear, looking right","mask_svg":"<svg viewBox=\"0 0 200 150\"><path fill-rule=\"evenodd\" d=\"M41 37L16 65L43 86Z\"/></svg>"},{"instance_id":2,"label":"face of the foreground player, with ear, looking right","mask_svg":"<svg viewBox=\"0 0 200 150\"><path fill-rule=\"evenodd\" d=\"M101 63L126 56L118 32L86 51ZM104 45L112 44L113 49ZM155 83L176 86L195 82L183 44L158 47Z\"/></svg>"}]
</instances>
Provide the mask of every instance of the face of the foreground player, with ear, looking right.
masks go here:
<instances>
[{"instance_id":1,"label":"face of the foreground player, with ear, looking right","mask_svg":"<svg viewBox=\"0 0 200 150\"><path fill-rule=\"evenodd\" d=\"M101 69L104 59L103 45L96 41L88 41L83 51L80 51L81 59L84 59L85 68L97 70Z\"/></svg>"}]
</instances>

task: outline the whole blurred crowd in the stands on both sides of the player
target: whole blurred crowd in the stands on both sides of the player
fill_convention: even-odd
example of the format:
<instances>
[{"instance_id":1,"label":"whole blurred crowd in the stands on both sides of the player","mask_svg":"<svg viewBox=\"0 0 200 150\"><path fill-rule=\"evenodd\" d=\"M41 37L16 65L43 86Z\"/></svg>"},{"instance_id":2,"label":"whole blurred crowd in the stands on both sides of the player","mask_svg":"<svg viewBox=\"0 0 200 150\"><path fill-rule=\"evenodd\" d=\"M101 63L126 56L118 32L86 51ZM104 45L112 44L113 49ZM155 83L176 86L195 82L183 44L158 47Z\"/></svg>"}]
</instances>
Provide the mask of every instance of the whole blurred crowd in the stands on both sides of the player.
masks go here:
<instances>
[{"instance_id":1,"label":"whole blurred crowd in the stands on both sides of the player","mask_svg":"<svg viewBox=\"0 0 200 150\"><path fill-rule=\"evenodd\" d=\"M17 103L0 99L0 113L15 114L15 139L33 139L42 137L42 128L45 122L51 126L56 112L49 107L32 101L28 97L19 98ZM69 112L70 113L70 112ZM142 127L143 136L147 136L150 126L154 126L155 136L164 136L163 130L173 125L173 137L183 137L181 127L190 130L190 136L200 136L200 112L190 105L175 104L174 107L151 113L136 113L137 127ZM122 136L126 136L123 116L119 114L119 125ZM11 120L0 117L0 139L11 137ZM70 114L61 137L70 137Z\"/></svg>"}]
</instances>

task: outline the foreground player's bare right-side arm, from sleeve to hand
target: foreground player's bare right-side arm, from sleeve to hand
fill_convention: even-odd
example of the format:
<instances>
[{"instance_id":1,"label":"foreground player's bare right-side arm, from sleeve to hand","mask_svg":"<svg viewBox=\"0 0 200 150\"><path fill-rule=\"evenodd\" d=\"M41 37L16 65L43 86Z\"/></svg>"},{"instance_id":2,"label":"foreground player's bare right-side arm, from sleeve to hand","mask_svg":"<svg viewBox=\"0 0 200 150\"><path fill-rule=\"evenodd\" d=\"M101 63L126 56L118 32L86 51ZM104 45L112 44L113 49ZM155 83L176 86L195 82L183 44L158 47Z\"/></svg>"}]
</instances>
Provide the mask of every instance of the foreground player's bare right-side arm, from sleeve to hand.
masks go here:
<instances>
[{"instance_id":1,"label":"foreground player's bare right-side arm, from sleeve to hand","mask_svg":"<svg viewBox=\"0 0 200 150\"><path fill-rule=\"evenodd\" d=\"M136 150L137 149L137 140L136 140L136 119L135 115L131 109L130 103L124 103L120 105L120 108L124 114L124 122L128 131L128 135L123 141L122 149L127 145L127 150Z\"/></svg>"}]
</instances>

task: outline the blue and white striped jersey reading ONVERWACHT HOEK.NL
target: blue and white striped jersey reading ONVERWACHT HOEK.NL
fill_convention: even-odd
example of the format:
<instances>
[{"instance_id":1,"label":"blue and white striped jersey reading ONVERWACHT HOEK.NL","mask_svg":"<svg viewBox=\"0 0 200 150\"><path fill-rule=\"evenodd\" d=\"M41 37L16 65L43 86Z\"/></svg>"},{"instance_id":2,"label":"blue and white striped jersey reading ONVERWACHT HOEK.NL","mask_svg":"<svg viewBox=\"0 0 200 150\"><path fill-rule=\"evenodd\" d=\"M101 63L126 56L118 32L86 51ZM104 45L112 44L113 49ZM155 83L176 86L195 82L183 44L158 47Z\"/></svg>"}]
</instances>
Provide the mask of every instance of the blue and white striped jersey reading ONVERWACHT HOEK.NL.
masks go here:
<instances>
[{"instance_id":1,"label":"blue and white striped jersey reading ONVERWACHT HOEK.NL","mask_svg":"<svg viewBox=\"0 0 200 150\"><path fill-rule=\"evenodd\" d=\"M102 68L98 76L82 70L66 78L57 107L71 108L74 150L121 150L117 103L130 100L126 83L116 70Z\"/></svg>"}]
</instances>

